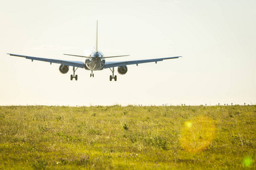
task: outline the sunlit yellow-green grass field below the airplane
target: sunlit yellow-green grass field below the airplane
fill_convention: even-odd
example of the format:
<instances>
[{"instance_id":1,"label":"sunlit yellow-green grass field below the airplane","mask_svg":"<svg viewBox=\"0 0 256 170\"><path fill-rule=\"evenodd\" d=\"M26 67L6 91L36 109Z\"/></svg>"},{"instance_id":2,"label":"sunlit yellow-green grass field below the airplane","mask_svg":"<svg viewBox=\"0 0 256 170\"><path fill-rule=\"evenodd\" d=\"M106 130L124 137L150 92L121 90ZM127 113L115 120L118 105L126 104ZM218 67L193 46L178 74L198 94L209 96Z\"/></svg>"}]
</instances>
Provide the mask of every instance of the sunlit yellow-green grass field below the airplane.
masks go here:
<instances>
[{"instance_id":1,"label":"sunlit yellow-green grass field below the airplane","mask_svg":"<svg viewBox=\"0 0 256 170\"><path fill-rule=\"evenodd\" d=\"M0 107L0 169L256 169L256 106Z\"/></svg>"}]
</instances>

